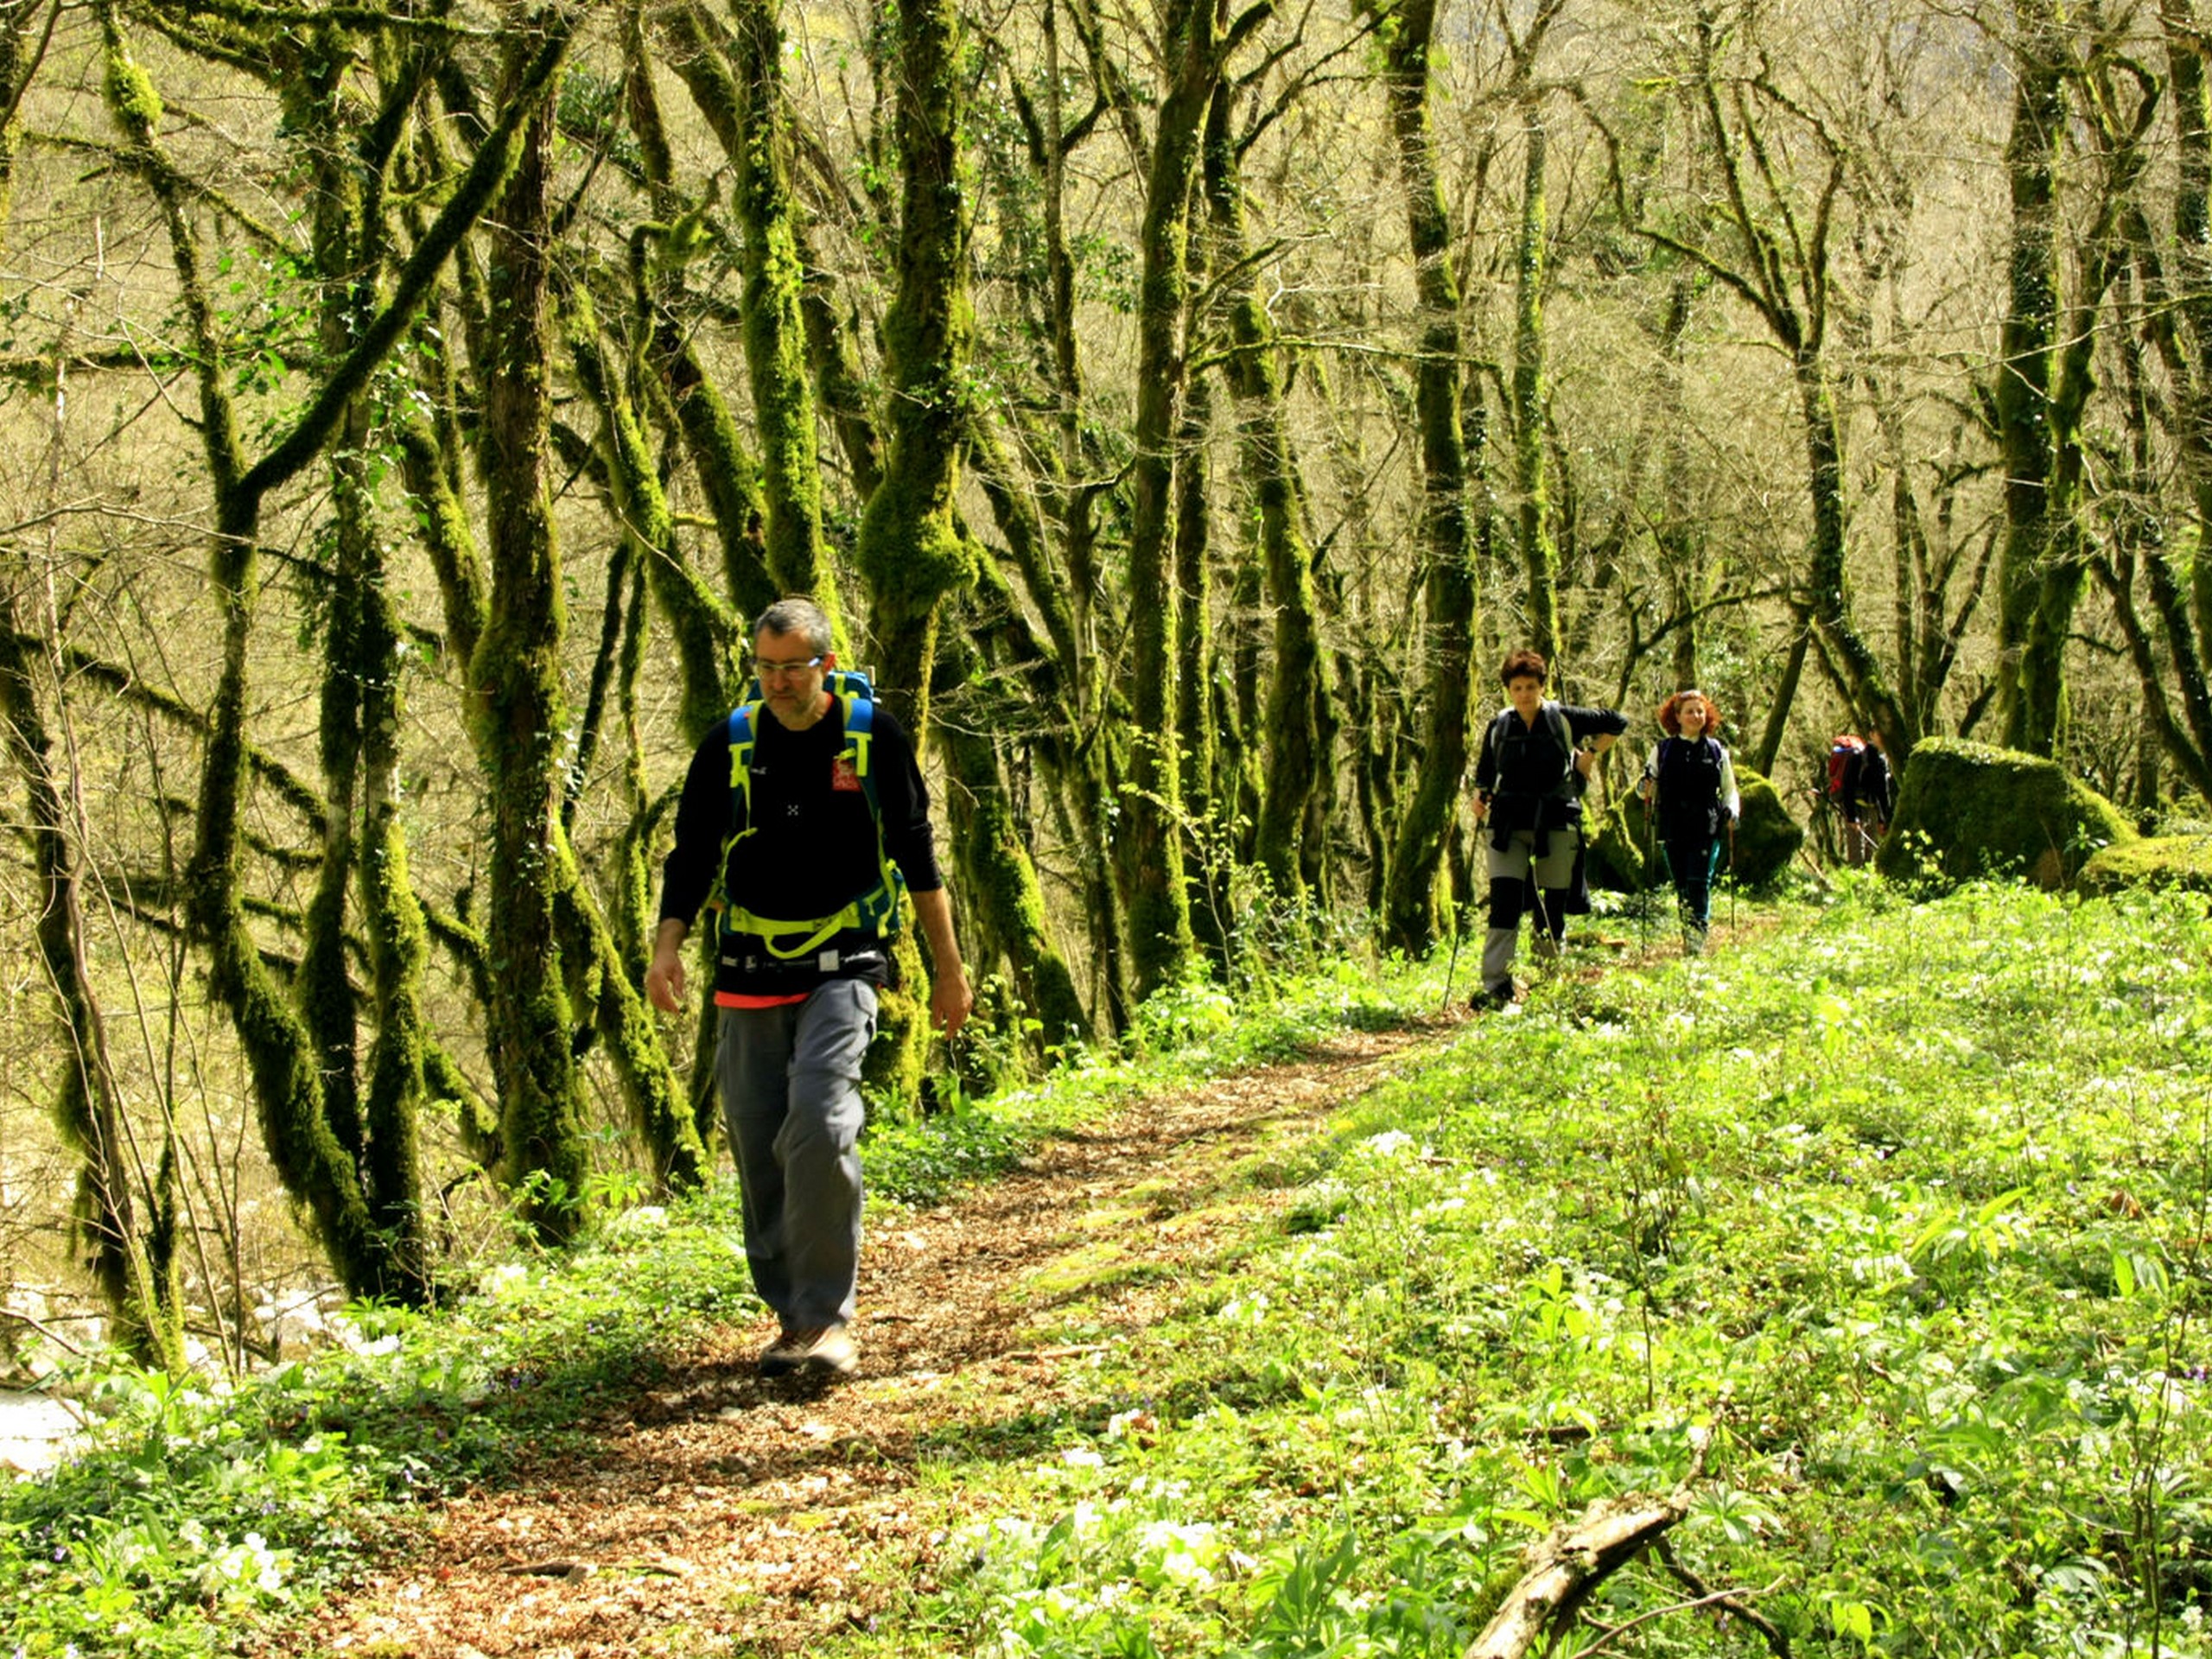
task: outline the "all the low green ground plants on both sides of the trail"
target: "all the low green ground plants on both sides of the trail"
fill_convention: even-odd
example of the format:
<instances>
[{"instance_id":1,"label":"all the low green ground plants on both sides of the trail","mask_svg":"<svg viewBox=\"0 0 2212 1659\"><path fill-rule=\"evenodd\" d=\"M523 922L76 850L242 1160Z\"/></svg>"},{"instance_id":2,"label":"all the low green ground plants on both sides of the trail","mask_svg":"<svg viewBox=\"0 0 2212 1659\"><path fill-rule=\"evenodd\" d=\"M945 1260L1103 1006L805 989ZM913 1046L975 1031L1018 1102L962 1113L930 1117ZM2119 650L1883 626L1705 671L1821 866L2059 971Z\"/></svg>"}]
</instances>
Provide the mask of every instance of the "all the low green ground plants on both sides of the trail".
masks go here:
<instances>
[{"instance_id":1,"label":"all the low green ground plants on both sides of the trail","mask_svg":"<svg viewBox=\"0 0 2212 1659\"><path fill-rule=\"evenodd\" d=\"M1677 1482L1692 1429L1672 1564L1608 1579L1566 1652L1770 1652L1681 1610L1703 1588L1798 1655L2212 1650L2203 900L1845 878L1772 920L1553 982L1225 1170L1210 1206L1290 1206L1133 1340L1088 1340L1115 1263L1064 1265L1037 1340L1093 1352L1051 1409L929 1440L933 1540L858 1564L902 1601L823 1652L1458 1655L1524 1544ZM933 1203L1438 978L1181 987L1128 1060L878 1133L874 1190ZM0 1500L0 1619L29 1655L250 1646L409 1493L495 1480L748 1316L728 1203L363 1310L358 1352L230 1398L106 1378L100 1449Z\"/></svg>"}]
</instances>

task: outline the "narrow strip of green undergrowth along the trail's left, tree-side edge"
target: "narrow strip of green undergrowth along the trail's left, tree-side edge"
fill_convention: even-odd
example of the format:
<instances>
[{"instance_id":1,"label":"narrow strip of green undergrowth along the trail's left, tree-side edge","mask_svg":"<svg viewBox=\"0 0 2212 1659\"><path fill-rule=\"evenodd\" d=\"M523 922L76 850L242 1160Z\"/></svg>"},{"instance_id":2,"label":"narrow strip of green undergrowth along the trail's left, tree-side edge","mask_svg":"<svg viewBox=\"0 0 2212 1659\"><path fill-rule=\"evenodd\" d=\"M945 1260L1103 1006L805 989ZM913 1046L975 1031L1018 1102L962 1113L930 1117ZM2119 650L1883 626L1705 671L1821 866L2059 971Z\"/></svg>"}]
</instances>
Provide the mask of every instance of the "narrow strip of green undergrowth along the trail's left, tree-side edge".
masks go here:
<instances>
[{"instance_id":1,"label":"narrow strip of green undergrowth along the trail's left, tree-side edge","mask_svg":"<svg viewBox=\"0 0 2212 1659\"><path fill-rule=\"evenodd\" d=\"M872 1203L940 1201L1060 1128L1398 1022L1431 993L1420 971L1352 967L1237 998L1172 989L1126 1055L1071 1055L1033 1086L872 1130ZM498 1482L524 1451L582 1444L611 1402L757 1314L726 1181L491 1267L436 1312L352 1307L345 1343L243 1383L62 1374L91 1429L49 1478L0 1482L0 1659L250 1652L414 1504Z\"/></svg>"}]
</instances>

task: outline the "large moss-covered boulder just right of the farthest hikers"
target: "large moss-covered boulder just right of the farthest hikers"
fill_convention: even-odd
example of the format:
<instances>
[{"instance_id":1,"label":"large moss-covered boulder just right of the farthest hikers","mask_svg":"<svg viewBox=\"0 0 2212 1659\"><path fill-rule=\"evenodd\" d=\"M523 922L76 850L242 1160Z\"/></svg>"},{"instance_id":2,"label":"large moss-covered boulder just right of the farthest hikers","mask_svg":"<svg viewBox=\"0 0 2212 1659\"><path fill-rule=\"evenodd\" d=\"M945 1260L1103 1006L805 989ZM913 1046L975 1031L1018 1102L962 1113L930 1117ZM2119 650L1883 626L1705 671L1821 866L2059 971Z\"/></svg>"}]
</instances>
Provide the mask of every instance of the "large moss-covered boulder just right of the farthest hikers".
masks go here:
<instances>
[{"instance_id":1,"label":"large moss-covered boulder just right of the farthest hikers","mask_svg":"<svg viewBox=\"0 0 2212 1659\"><path fill-rule=\"evenodd\" d=\"M2093 854L2135 838L2119 807L2055 761L1929 737L1905 768L1876 869L1947 885L2017 876L2057 891Z\"/></svg>"}]
</instances>

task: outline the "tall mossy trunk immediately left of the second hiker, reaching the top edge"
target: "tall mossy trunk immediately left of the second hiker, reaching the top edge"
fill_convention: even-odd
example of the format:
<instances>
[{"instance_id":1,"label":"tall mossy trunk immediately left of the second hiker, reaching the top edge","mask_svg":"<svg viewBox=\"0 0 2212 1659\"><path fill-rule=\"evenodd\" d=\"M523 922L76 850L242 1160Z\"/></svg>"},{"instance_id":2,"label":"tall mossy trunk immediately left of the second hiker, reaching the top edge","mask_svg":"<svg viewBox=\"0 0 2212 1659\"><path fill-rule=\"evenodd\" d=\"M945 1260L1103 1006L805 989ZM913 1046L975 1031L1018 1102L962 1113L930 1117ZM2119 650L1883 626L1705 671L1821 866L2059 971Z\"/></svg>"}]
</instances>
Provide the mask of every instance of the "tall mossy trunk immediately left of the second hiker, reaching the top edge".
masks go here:
<instances>
[{"instance_id":1,"label":"tall mossy trunk immediately left of the second hiker, reaching the top edge","mask_svg":"<svg viewBox=\"0 0 2212 1659\"><path fill-rule=\"evenodd\" d=\"M1422 319L1413 405L1420 420L1420 553L1427 571L1427 708L1420 774L1391 849L1383 938L1394 949L1427 951L1438 927L1436 876L1467 776L1475 566L1467 511L1467 442L1460 429L1460 285L1451 270L1451 215L1444 212L1429 126L1436 4L1409 0L1398 7L1394 22L1396 29L1385 38L1383 75Z\"/></svg>"}]
</instances>

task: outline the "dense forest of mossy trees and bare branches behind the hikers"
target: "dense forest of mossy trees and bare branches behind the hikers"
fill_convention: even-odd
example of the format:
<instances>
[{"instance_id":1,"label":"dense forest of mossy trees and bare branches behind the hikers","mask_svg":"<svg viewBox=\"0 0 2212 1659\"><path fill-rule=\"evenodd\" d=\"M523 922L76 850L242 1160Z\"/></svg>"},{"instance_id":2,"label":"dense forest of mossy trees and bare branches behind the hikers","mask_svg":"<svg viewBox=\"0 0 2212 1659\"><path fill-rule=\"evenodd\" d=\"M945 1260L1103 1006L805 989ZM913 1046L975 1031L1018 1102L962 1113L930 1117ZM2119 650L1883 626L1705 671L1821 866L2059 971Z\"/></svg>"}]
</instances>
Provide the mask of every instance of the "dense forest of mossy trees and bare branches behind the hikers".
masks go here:
<instances>
[{"instance_id":1,"label":"dense forest of mossy trees and bare branches behind the hikers","mask_svg":"<svg viewBox=\"0 0 2212 1659\"><path fill-rule=\"evenodd\" d=\"M776 593L925 732L969 1064L1438 942L1517 644L1703 684L1801 810L1843 723L2212 792L2208 53L2194 0L0 0L0 1343L246 1363L285 1290L706 1179L637 982Z\"/></svg>"}]
</instances>

